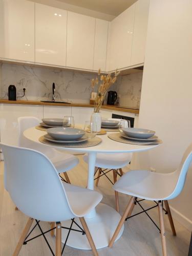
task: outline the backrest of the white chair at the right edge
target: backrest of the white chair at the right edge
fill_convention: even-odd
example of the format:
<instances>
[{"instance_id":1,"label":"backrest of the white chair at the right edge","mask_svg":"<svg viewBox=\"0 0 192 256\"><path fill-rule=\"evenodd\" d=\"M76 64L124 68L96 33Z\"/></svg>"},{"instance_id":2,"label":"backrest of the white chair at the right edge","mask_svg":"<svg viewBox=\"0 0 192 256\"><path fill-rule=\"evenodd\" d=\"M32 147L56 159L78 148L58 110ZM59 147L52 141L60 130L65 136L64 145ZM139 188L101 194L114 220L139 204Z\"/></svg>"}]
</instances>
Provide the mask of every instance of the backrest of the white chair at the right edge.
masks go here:
<instances>
[{"instance_id":1,"label":"backrest of the white chair at the right edge","mask_svg":"<svg viewBox=\"0 0 192 256\"><path fill-rule=\"evenodd\" d=\"M179 168L173 173L173 176L175 176L173 177L173 180L176 180L177 182L176 182L176 186L173 193L167 199L173 199L181 193L183 186L185 184L186 175L191 162L192 162L192 143L187 147L182 157Z\"/></svg>"}]
</instances>

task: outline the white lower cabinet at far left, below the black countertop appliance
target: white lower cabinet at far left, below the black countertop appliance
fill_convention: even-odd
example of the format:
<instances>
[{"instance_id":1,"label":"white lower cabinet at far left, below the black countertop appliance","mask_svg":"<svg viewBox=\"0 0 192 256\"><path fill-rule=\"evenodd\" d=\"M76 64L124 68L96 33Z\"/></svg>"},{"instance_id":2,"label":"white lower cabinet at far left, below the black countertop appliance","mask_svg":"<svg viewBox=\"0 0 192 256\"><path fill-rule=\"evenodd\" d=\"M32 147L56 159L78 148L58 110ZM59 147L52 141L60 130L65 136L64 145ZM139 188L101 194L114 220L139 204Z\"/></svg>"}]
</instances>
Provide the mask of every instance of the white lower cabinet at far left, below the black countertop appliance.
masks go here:
<instances>
[{"instance_id":1,"label":"white lower cabinet at far left, below the black countertop appliance","mask_svg":"<svg viewBox=\"0 0 192 256\"><path fill-rule=\"evenodd\" d=\"M20 116L33 116L42 119L42 105L0 104L1 142L17 145L18 122Z\"/></svg>"}]
</instances>

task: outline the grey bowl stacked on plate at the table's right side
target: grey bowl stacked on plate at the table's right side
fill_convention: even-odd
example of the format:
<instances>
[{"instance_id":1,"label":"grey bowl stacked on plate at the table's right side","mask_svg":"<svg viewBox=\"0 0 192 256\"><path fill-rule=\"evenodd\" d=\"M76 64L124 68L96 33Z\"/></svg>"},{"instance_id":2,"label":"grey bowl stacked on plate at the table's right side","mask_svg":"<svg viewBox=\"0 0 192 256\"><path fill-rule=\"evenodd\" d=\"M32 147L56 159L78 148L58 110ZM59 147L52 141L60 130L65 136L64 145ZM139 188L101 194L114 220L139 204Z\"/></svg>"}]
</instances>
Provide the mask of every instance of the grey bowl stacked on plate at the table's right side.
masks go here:
<instances>
[{"instance_id":1,"label":"grey bowl stacked on plate at the table's right side","mask_svg":"<svg viewBox=\"0 0 192 256\"><path fill-rule=\"evenodd\" d=\"M154 136L155 132L141 128L122 128L125 135L132 138L147 139Z\"/></svg>"}]
</instances>

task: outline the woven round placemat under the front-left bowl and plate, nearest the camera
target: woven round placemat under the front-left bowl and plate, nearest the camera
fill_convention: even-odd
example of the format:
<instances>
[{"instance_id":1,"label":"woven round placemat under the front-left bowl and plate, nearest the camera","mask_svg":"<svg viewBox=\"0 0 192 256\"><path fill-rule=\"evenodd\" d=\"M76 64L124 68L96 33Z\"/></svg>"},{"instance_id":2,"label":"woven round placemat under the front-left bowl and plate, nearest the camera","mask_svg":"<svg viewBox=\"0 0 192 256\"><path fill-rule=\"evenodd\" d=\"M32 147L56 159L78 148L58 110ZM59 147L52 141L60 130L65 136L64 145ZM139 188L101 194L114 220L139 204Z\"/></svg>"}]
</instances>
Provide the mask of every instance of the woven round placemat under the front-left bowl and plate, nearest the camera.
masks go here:
<instances>
[{"instance_id":1,"label":"woven round placemat under the front-left bowl and plate, nearest the camera","mask_svg":"<svg viewBox=\"0 0 192 256\"><path fill-rule=\"evenodd\" d=\"M93 139L88 139L84 142L79 142L79 143L56 143L56 142L51 142L49 140L46 140L44 135L39 138L39 141L47 144L47 145L52 145L52 146L60 146L60 147L89 147L89 146L96 146L98 145L102 139L99 137L95 137Z\"/></svg>"}]
</instances>

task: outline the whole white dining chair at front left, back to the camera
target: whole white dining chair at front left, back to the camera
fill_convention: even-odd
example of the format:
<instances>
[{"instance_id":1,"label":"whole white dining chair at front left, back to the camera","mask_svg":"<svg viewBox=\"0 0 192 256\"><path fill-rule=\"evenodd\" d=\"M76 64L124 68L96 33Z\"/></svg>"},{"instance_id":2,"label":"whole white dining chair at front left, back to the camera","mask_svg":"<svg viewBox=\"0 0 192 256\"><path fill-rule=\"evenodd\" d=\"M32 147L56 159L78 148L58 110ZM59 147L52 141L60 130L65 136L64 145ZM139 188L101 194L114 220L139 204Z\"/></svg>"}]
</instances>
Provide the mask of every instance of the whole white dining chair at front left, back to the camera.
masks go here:
<instances>
[{"instance_id":1,"label":"whole white dining chair at front left, back to the camera","mask_svg":"<svg viewBox=\"0 0 192 256\"><path fill-rule=\"evenodd\" d=\"M44 238L46 232L42 232L39 221L56 222L55 255L61 256L61 228L65 227L61 227L60 222L72 219L73 224L76 217L81 222L94 255L98 255L84 216L98 205L102 195L94 190L61 182L55 166L38 151L2 143L0 146L6 165L7 190L19 210L29 216L13 256L17 256L26 243L33 220Z\"/></svg>"}]
</instances>

